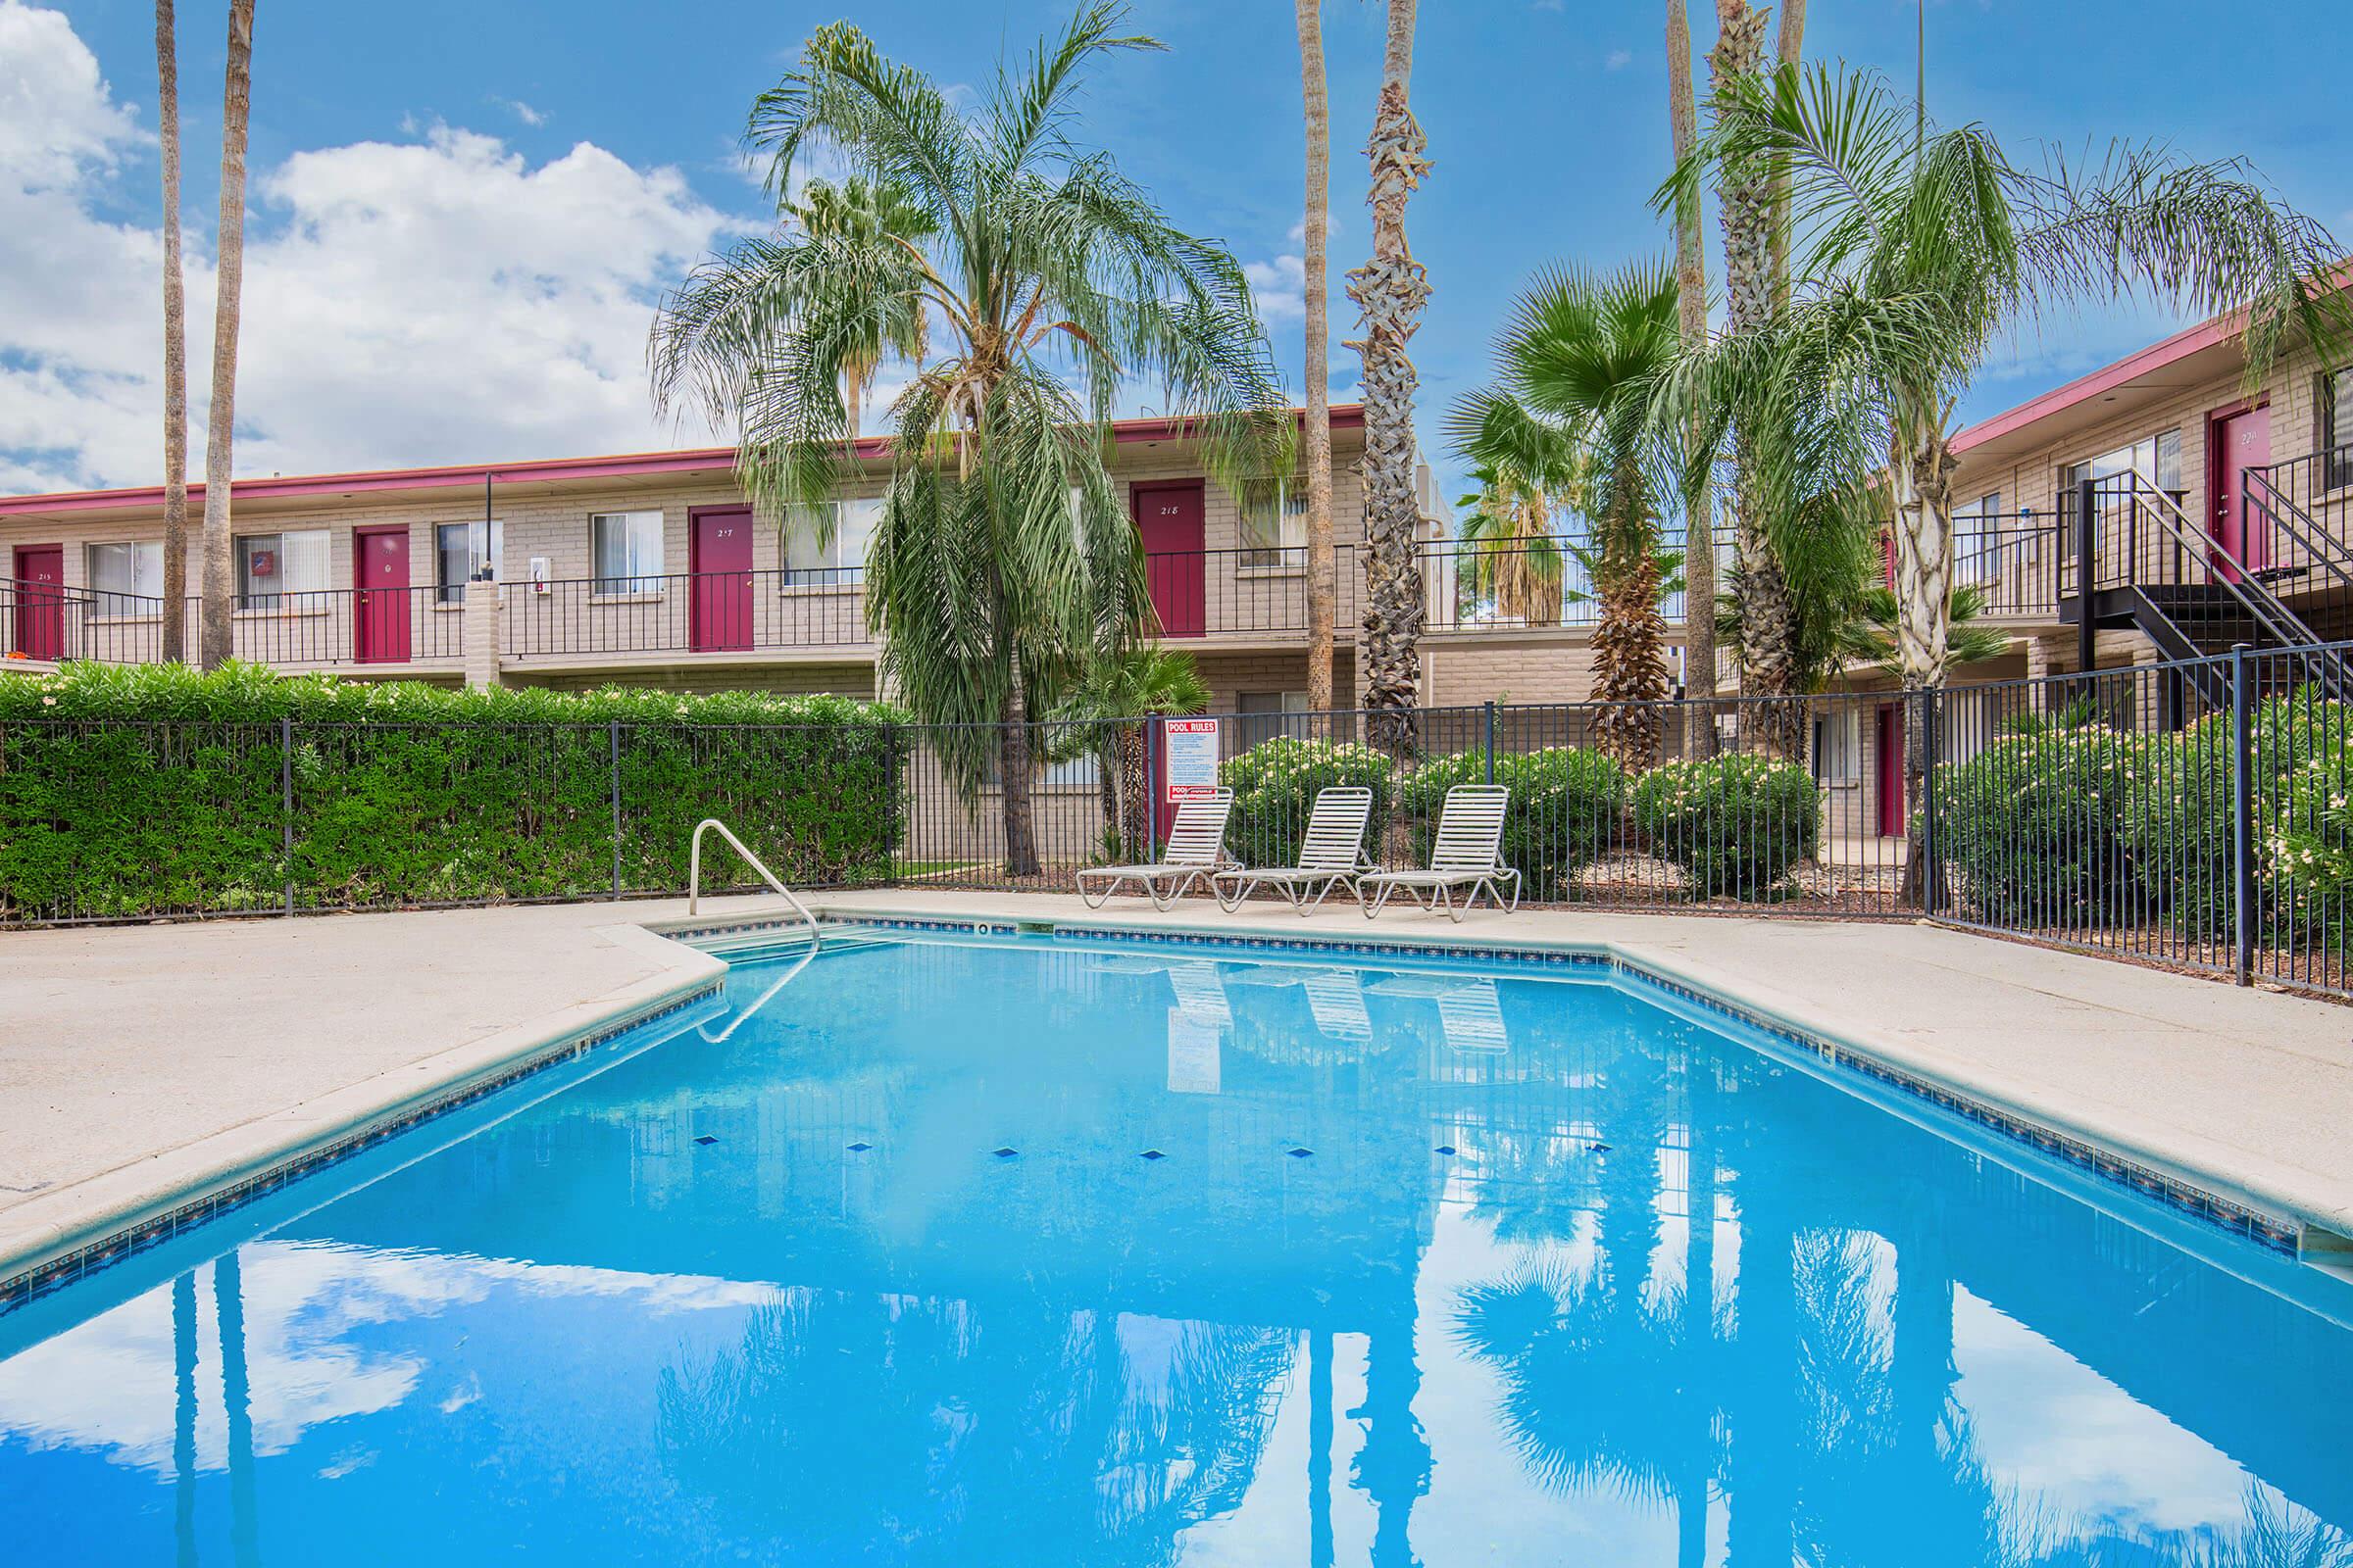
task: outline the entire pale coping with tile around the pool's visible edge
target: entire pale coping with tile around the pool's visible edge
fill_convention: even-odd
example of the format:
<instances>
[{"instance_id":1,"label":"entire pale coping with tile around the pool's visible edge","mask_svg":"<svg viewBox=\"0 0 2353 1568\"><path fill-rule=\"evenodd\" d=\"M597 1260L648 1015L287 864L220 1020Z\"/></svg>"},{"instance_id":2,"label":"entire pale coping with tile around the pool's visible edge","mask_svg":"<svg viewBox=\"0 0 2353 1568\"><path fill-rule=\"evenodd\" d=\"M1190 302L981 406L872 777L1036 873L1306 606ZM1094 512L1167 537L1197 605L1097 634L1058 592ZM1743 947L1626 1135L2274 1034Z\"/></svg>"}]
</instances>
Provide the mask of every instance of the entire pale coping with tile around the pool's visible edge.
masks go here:
<instances>
[{"instance_id":1,"label":"entire pale coping with tile around the pool's visible edge","mask_svg":"<svg viewBox=\"0 0 2353 1568\"><path fill-rule=\"evenodd\" d=\"M1704 961L1668 964L1617 940L1508 938L1485 931L1402 936L1365 931L1339 936L1299 931L1252 914L1205 924L1186 917L1122 919L1061 912L941 914L908 905L816 900L826 924L901 931L1221 945L1242 950L1348 952L1374 957L1442 957L1537 964L1595 964L1664 987L1706 1011L1762 1030L1784 1046L1880 1086L1927 1100L2026 1150L2049 1154L2127 1192L2162 1204L2224 1234L2266 1251L2301 1258L2332 1274L2348 1274L2353 1208L2313 1208L2259 1175L2217 1173L2177 1152L2137 1138L2129 1128L2075 1114L2033 1093L1972 1074L1939 1072L1934 1063L1885 1039L1807 1009L1777 1006L1741 980L1711 973ZM89 1269L155 1246L216 1213L372 1147L447 1110L480 1100L541 1067L569 1060L624 1030L675 1013L722 992L727 964L706 947L729 938L802 931L798 914L706 914L616 922L591 936L654 957L656 973L588 1001L511 1025L464 1046L419 1058L294 1107L212 1133L151 1159L38 1194L0 1215L0 1314L47 1295ZM701 945L699 945L701 943ZM45 1218L52 1213L54 1218Z\"/></svg>"}]
</instances>

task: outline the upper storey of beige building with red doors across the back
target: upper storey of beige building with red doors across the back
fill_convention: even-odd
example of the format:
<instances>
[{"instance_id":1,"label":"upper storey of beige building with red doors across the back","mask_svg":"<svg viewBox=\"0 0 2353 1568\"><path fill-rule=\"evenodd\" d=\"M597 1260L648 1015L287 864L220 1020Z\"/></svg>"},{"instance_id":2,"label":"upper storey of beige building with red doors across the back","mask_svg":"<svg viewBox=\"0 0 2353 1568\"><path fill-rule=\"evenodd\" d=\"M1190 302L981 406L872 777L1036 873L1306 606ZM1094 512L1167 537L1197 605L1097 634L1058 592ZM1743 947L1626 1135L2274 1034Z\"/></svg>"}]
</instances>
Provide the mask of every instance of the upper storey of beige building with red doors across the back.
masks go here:
<instances>
[{"instance_id":1,"label":"upper storey of beige building with red doors across the back","mask_svg":"<svg viewBox=\"0 0 2353 1568\"><path fill-rule=\"evenodd\" d=\"M1362 423L1358 407L1332 411L1339 701L1360 696ZM762 522L732 461L732 449L692 449L238 480L235 651L355 679L873 696L864 569L885 444L861 444L861 473L824 520ZM1113 475L1146 552L1158 635L1195 654L1221 710L1301 708L1304 484L1235 496L1158 418L1113 428ZM193 487L191 515L200 510ZM1591 689L1588 614L1499 614L1435 529L1424 548L1426 698ZM21 656L19 668L153 661L165 614L186 618L193 646L195 602L160 597L158 487L0 498L0 651ZM195 559L188 583L200 583Z\"/></svg>"}]
</instances>

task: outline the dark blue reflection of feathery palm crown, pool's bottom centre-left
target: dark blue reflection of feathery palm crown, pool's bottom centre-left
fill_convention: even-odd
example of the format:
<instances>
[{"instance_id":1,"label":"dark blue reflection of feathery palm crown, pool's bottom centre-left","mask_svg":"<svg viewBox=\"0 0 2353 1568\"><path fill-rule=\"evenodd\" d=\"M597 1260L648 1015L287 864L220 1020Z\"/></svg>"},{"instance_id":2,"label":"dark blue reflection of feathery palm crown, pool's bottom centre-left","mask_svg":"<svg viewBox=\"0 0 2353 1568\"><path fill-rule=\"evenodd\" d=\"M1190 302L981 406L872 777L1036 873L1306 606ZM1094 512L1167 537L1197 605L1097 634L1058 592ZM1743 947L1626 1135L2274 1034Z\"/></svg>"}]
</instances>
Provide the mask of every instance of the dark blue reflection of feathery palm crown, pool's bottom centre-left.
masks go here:
<instances>
[{"instance_id":1,"label":"dark blue reflection of feathery palm crown, pool's bottom centre-left","mask_svg":"<svg viewBox=\"0 0 2353 1568\"><path fill-rule=\"evenodd\" d=\"M1106 1312L793 1291L736 1347L661 1373L671 1474L812 1561L1167 1563L1257 1474L1282 1328L1167 1326L1139 1368Z\"/></svg>"}]
</instances>

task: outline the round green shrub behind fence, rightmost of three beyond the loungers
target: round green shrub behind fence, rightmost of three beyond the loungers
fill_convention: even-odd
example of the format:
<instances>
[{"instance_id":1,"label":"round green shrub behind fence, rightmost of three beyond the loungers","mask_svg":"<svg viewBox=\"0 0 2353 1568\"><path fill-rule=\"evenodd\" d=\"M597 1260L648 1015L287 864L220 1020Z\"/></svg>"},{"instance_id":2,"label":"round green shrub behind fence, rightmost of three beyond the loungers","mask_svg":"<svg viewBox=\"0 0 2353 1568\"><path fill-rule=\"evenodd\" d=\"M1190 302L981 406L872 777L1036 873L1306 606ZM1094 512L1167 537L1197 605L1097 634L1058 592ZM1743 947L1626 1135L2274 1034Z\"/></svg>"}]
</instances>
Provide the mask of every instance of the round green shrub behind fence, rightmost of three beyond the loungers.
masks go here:
<instances>
[{"instance_id":1,"label":"round green shrub behind fence, rightmost of three beyond the loungers","mask_svg":"<svg viewBox=\"0 0 2353 1568\"><path fill-rule=\"evenodd\" d=\"M1769 757L1668 762L1635 780L1633 820L1694 898L1772 898L1821 842L1821 792Z\"/></svg>"}]
</instances>

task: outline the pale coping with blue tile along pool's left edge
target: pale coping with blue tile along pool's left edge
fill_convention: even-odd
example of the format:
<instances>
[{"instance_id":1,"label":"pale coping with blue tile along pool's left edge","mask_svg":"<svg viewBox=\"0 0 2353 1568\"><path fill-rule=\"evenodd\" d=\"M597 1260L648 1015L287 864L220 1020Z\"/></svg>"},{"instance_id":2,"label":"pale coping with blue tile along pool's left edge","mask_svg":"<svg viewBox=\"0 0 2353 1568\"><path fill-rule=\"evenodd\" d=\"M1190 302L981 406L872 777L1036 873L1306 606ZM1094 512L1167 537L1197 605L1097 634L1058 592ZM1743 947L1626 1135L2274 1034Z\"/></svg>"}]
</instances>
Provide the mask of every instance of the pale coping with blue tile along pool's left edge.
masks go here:
<instances>
[{"instance_id":1,"label":"pale coping with blue tile along pool's left edge","mask_svg":"<svg viewBox=\"0 0 2353 1568\"><path fill-rule=\"evenodd\" d=\"M638 950L656 971L0 1213L0 1314L725 985L722 959L642 922L586 933Z\"/></svg>"}]
</instances>

